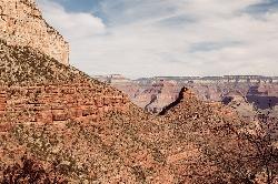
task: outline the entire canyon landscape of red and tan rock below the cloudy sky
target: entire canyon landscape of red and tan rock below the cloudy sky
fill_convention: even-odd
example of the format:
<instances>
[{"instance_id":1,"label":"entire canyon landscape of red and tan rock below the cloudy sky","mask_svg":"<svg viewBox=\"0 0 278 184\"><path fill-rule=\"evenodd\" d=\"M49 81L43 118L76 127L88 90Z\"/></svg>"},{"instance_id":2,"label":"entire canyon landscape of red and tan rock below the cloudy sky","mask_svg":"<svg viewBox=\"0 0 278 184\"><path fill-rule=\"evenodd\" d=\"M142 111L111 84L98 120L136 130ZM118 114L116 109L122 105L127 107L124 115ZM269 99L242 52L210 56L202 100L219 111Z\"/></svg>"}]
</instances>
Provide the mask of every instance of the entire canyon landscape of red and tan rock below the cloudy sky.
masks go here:
<instances>
[{"instance_id":1,"label":"entire canyon landscape of red and tan rock below the cloudy sky","mask_svg":"<svg viewBox=\"0 0 278 184\"><path fill-rule=\"evenodd\" d=\"M44 22L32 0L0 6ZM0 31L0 183L277 183L277 119L265 127L262 114L246 121L235 111L245 98L276 96L276 79L211 88L202 79L198 90L191 78L101 82L67 62L54 30L42 38L17 27L22 40Z\"/></svg>"}]
</instances>

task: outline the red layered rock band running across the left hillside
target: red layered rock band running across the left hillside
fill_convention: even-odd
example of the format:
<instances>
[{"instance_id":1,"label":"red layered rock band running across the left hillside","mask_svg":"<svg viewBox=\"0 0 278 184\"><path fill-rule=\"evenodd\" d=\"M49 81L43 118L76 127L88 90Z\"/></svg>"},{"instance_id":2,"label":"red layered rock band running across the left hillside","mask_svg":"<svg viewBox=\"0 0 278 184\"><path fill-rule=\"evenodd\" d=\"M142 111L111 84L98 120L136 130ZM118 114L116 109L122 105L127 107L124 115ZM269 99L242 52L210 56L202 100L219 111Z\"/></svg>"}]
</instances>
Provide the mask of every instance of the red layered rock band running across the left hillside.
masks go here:
<instances>
[{"instance_id":1,"label":"red layered rock band running across the left hillside","mask_svg":"<svg viewBox=\"0 0 278 184\"><path fill-rule=\"evenodd\" d=\"M10 86L0 89L1 121L53 123L100 121L105 113L125 112L128 99L89 83Z\"/></svg>"}]
</instances>

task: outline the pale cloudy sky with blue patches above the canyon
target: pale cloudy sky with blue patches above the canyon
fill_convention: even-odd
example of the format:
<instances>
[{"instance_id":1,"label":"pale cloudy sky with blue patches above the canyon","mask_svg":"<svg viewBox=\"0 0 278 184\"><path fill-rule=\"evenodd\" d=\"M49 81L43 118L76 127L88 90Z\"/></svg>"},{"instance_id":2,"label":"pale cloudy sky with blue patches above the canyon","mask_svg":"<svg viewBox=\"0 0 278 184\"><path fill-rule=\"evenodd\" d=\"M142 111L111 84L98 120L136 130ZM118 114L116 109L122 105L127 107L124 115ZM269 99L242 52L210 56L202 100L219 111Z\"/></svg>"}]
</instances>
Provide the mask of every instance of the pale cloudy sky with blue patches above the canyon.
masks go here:
<instances>
[{"instance_id":1,"label":"pale cloudy sky with blue patches above the canyon","mask_svg":"<svg viewBox=\"0 0 278 184\"><path fill-rule=\"evenodd\" d=\"M37 0L90 75L278 75L278 0Z\"/></svg>"}]
</instances>

